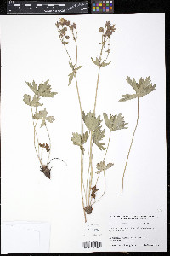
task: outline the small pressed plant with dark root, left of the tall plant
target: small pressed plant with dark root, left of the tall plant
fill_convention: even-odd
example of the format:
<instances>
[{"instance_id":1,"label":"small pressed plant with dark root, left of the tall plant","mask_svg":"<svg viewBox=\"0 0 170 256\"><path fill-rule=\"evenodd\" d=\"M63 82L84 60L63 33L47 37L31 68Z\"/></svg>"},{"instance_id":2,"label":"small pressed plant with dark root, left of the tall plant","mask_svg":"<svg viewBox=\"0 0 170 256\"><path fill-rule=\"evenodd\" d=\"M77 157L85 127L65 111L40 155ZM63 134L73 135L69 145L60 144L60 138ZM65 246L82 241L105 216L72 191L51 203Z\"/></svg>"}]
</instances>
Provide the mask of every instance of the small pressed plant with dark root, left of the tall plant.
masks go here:
<instances>
[{"instance_id":1,"label":"small pressed plant with dark root, left of the tall plant","mask_svg":"<svg viewBox=\"0 0 170 256\"><path fill-rule=\"evenodd\" d=\"M57 92L51 91L51 85L48 84L49 80L42 82L41 84L36 84L35 81L32 83L26 82L28 87L34 93L33 97L30 95L25 94L23 101L26 105L31 107L31 118L32 124L34 129L34 148L36 150L37 158L40 162L40 171L44 173L44 175L50 178L50 171L48 165L50 163L50 153L51 153L51 138L48 131L48 124L53 123L54 117L48 116L48 111L46 108L39 110L39 107L42 107L42 103L40 102L42 98L52 98ZM38 108L38 109L37 109ZM38 111L39 110L39 111ZM37 134L37 123L40 122L40 128L45 128L48 134L48 143L40 143L38 134ZM43 128L42 128L43 127ZM48 154L48 160L44 161L42 159L42 150L45 149Z\"/></svg>"}]
</instances>

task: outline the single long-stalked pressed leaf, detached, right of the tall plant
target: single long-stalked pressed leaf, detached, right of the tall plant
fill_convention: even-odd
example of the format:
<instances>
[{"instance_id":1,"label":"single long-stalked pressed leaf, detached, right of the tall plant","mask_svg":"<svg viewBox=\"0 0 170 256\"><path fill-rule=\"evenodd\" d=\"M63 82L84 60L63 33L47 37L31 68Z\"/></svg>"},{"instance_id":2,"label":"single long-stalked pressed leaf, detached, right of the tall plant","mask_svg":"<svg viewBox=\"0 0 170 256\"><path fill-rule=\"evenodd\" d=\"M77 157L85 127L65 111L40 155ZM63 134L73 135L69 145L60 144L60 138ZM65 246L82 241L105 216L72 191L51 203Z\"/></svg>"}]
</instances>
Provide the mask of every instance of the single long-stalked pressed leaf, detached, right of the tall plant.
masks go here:
<instances>
[{"instance_id":1,"label":"single long-stalked pressed leaf, detached, right of the tall plant","mask_svg":"<svg viewBox=\"0 0 170 256\"><path fill-rule=\"evenodd\" d=\"M122 175L122 191L123 191L124 176L125 176L125 172L126 172L126 169L127 169L127 161L128 161L129 154L130 154L130 151L131 151L131 148L132 148L132 145L133 145L133 138L134 138L137 126L139 124L139 98L149 94L153 90L156 90L156 84L154 84L154 85L151 84L150 76L145 78L145 79L140 78L138 83L136 82L135 79L130 79L128 76L127 76L126 80L127 80L127 83L130 84L133 87L133 90L135 90L136 93L122 95L122 98L119 100L119 102L126 102L126 101L137 98L137 103L138 103L137 112L138 112L138 114L137 114L136 125L135 125L134 131L133 131L133 137L132 137L132 140L131 140L131 143L130 143L130 148L128 149L127 160L126 160L126 164L125 164L125 167L124 167L124 172L123 172L123 175Z\"/></svg>"}]
</instances>

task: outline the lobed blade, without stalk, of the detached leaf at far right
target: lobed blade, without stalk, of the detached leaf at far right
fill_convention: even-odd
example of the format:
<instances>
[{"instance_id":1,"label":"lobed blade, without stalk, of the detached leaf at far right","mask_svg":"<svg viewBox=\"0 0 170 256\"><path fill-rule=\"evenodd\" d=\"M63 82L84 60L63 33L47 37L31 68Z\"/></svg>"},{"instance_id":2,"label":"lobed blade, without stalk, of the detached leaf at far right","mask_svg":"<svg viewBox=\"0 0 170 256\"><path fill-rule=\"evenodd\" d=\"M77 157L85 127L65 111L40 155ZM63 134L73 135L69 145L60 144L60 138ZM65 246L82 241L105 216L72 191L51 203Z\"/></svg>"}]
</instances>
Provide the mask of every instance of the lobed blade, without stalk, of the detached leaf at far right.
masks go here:
<instances>
[{"instance_id":1,"label":"lobed blade, without stalk, of the detached leaf at far right","mask_svg":"<svg viewBox=\"0 0 170 256\"><path fill-rule=\"evenodd\" d=\"M128 100L132 100L137 97L143 97L147 94L149 94L151 91L156 90L156 84L152 85L150 81L150 76L146 79L140 78L139 83L136 83L135 79L130 79L127 76L127 83L130 84L133 87L133 90L136 91L136 94L125 94L122 95L122 98L119 100L119 102L126 102Z\"/></svg>"}]
</instances>

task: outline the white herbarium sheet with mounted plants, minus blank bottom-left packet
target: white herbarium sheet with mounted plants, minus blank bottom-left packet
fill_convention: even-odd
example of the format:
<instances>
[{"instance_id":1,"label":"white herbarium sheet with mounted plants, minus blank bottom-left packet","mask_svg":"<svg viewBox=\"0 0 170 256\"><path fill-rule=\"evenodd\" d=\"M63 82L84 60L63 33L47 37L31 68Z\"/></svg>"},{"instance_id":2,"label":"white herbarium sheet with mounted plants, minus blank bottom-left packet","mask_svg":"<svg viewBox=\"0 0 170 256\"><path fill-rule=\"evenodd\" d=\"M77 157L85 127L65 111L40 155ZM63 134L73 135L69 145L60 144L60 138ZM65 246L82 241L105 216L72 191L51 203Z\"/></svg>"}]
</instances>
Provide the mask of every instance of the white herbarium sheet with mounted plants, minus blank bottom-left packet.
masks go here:
<instances>
[{"instance_id":1,"label":"white herbarium sheet with mounted plants, minus blank bottom-left packet","mask_svg":"<svg viewBox=\"0 0 170 256\"><path fill-rule=\"evenodd\" d=\"M164 14L0 26L2 220L47 222L52 253L166 252Z\"/></svg>"}]
</instances>

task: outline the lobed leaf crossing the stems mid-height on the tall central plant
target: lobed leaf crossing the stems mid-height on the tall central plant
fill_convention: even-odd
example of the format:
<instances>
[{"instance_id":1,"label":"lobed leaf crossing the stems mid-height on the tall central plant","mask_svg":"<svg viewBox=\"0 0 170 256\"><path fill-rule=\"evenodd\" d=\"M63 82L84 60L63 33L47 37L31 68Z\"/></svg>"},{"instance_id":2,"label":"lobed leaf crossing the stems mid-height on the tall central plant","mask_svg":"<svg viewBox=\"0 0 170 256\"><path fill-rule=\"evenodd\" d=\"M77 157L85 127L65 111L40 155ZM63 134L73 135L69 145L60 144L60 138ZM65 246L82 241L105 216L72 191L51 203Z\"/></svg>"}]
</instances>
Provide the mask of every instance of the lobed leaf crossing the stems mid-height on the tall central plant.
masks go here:
<instances>
[{"instance_id":1,"label":"lobed leaf crossing the stems mid-height on the tall central plant","mask_svg":"<svg viewBox=\"0 0 170 256\"><path fill-rule=\"evenodd\" d=\"M82 119L90 131L96 130L101 123L100 116L96 118L95 114L91 113L91 111L88 114L82 111Z\"/></svg>"}]
</instances>

